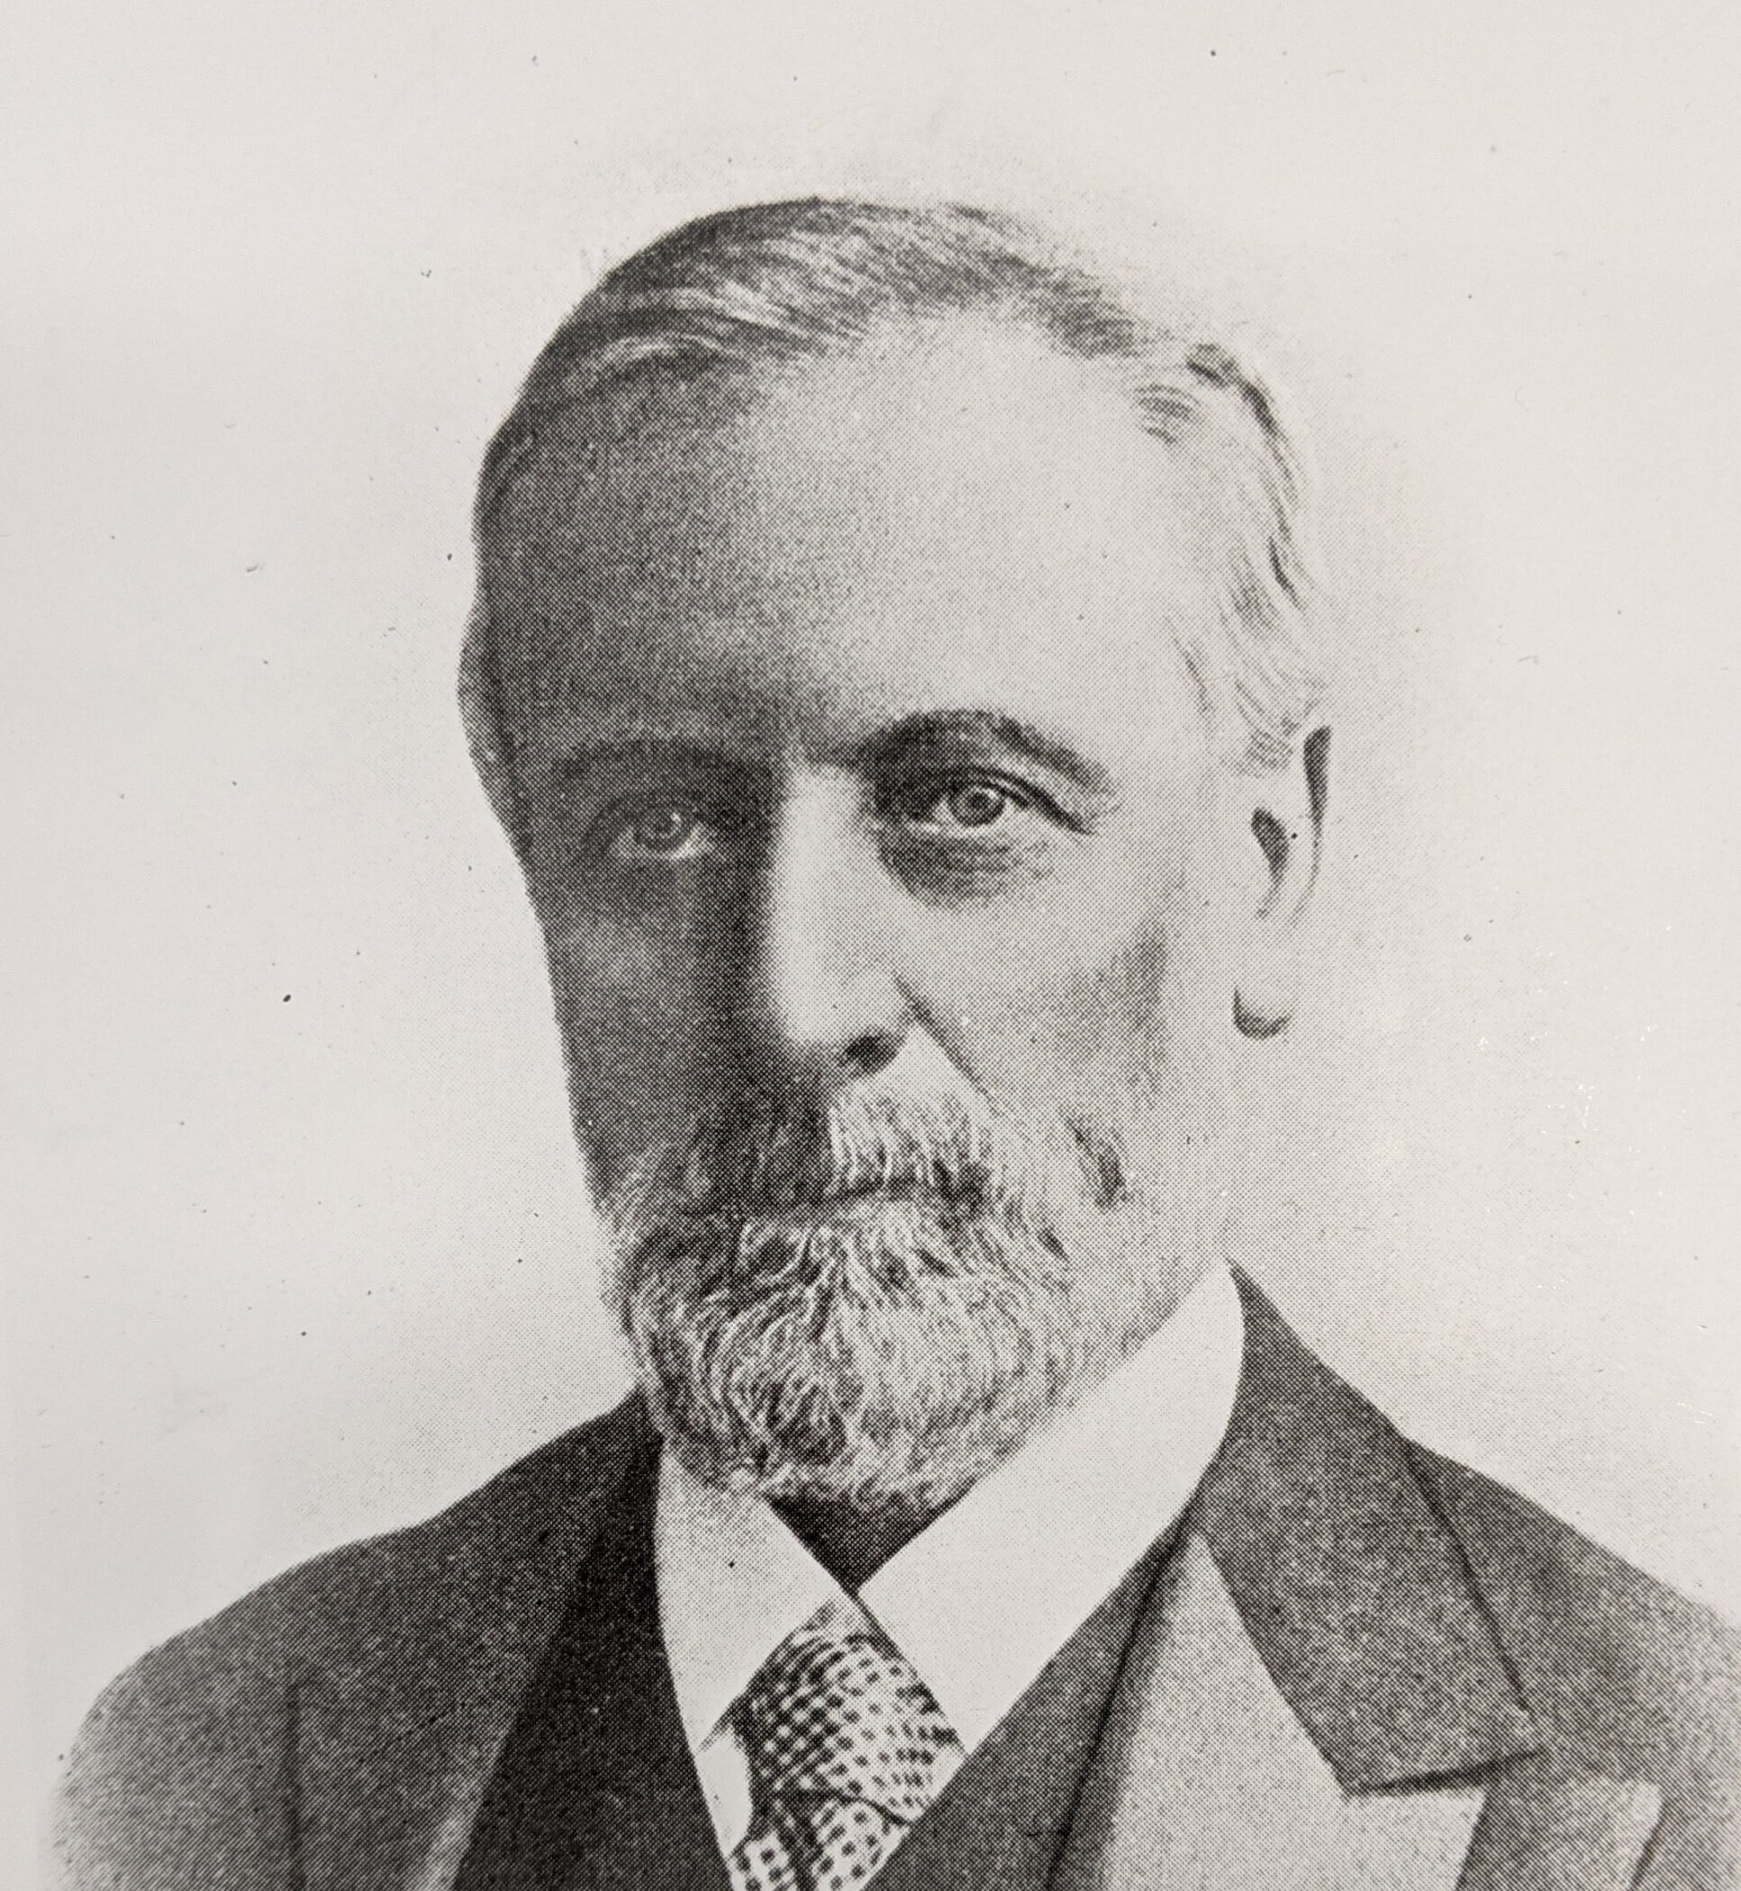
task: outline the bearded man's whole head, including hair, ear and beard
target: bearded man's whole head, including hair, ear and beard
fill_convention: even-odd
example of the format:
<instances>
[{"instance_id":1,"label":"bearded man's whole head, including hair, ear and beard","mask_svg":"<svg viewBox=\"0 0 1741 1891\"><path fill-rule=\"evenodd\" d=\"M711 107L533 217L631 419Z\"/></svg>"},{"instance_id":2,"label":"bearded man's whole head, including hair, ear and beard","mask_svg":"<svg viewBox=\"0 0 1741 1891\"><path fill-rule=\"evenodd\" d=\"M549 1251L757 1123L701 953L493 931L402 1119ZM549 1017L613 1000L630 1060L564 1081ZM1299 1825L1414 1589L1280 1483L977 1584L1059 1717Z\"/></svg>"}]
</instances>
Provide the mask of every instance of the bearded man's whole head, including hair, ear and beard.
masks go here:
<instances>
[{"instance_id":1,"label":"bearded man's whole head, including hair, ear and beard","mask_svg":"<svg viewBox=\"0 0 1741 1891\"><path fill-rule=\"evenodd\" d=\"M539 357L464 698L704 1475L935 1509L1204 1265L1317 857L1296 514L1232 356L978 212L712 217Z\"/></svg>"}]
</instances>

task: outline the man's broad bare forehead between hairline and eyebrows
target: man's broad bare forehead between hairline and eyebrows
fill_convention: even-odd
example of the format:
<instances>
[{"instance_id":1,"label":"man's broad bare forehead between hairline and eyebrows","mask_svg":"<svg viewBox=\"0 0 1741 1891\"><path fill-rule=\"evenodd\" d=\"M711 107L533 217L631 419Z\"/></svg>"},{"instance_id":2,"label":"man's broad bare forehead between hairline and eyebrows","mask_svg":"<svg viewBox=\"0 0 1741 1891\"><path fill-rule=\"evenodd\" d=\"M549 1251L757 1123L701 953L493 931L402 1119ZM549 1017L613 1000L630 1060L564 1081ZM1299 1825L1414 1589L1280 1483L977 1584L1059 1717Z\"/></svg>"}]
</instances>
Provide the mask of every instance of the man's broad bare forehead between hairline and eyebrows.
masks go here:
<instances>
[{"instance_id":1,"label":"man's broad bare forehead between hairline and eyebrows","mask_svg":"<svg viewBox=\"0 0 1741 1891\"><path fill-rule=\"evenodd\" d=\"M1111 376L958 321L566 414L484 577L528 734L825 747L976 707L1105 747L1185 683L1213 512Z\"/></svg>"}]
</instances>

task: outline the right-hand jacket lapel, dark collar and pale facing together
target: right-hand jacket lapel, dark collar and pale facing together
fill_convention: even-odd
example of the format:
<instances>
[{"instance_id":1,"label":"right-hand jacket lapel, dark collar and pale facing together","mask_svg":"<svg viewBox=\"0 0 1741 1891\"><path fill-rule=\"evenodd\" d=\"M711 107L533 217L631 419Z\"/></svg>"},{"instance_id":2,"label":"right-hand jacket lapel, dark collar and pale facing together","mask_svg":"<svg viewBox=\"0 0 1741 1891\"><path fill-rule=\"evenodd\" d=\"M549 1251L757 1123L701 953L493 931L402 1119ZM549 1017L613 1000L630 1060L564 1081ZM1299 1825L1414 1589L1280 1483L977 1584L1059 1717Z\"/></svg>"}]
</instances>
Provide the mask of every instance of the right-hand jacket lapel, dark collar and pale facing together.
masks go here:
<instances>
[{"instance_id":1,"label":"right-hand jacket lapel, dark collar and pale facing together","mask_svg":"<svg viewBox=\"0 0 1741 1891\"><path fill-rule=\"evenodd\" d=\"M1245 1373L1060 1870L1109 1891L1620 1891L1660 1802L1546 1772L1408 1447L1245 1301Z\"/></svg>"}]
</instances>

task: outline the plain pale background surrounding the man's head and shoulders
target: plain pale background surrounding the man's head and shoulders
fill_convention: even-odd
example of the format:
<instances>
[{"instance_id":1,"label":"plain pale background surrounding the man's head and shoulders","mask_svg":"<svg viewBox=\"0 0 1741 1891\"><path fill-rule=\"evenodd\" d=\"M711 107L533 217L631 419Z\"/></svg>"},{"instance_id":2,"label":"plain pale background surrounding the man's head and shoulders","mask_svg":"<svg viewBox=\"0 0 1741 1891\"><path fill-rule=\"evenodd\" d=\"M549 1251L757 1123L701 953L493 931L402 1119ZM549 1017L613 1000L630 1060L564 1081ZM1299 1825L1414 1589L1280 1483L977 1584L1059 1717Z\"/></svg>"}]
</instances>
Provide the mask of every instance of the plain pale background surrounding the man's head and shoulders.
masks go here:
<instances>
[{"instance_id":1,"label":"plain pale background surrounding the man's head and shoulders","mask_svg":"<svg viewBox=\"0 0 1741 1891\"><path fill-rule=\"evenodd\" d=\"M1416 1435L1741 1613L1733 8L6 32L9 1883L123 1662L623 1386L452 707L469 488L598 269L757 195L1117 229L1293 393L1332 847L1240 1252Z\"/></svg>"}]
</instances>

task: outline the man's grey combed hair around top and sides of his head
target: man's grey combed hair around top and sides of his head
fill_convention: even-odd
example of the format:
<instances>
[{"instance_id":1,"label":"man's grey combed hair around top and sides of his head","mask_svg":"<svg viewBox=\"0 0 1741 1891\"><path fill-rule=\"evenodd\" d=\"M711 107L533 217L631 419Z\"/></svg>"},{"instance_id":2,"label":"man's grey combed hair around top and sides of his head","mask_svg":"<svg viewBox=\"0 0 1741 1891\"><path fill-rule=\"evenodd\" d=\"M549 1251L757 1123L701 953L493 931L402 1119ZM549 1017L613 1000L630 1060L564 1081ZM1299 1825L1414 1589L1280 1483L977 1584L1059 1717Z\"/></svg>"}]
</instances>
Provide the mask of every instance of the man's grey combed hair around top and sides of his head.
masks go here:
<instances>
[{"instance_id":1,"label":"man's grey combed hair around top and sides of his head","mask_svg":"<svg viewBox=\"0 0 1741 1891\"><path fill-rule=\"evenodd\" d=\"M698 217L609 270L545 344L484 454L473 512L481 577L460 702L509 834L522 836L522 809L483 550L541 431L638 376L768 373L850 354L891 321L946 316L1024 325L1067 359L1120 371L1143 431L1222 484L1221 611L1185 635L1181 654L1211 705L1232 705L1228 747L1241 766L1277 768L1293 755L1323 694L1308 635L1306 482L1258 376L1219 342L1141 312L1016 217L963 204L799 199Z\"/></svg>"}]
</instances>

